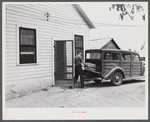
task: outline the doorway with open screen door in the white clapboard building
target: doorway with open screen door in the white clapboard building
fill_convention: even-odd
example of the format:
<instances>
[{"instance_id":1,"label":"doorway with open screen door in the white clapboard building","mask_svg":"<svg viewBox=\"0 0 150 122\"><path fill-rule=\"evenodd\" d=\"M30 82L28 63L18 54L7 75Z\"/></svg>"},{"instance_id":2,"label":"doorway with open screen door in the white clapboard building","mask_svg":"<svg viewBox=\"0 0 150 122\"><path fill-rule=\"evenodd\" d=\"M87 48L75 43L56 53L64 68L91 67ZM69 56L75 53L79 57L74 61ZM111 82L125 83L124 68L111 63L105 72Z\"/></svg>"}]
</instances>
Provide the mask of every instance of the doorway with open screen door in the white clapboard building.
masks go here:
<instances>
[{"instance_id":1,"label":"doorway with open screen door in the white clapboard building","mask_svg":"<svg viewBox=\"0 0 150 122\"><path fill-rule=\"evenodd\" d=\"M55 84L71 86L73 84L73 41L55 41Z\"/></svg>"}]
</instances>

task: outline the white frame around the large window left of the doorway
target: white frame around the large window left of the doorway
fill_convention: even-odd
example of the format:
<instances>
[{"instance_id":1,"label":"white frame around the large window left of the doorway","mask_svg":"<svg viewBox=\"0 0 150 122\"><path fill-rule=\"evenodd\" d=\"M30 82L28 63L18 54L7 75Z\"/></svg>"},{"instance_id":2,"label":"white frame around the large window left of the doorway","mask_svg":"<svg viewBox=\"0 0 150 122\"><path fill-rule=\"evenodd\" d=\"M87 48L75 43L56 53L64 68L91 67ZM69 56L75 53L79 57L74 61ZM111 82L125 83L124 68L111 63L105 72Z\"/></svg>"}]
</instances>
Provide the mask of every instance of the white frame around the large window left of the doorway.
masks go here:
<instances>
[{"instance_id":1,"label":"white frame around the large window left of the doorway","mask_svg":"<svg viewBox=\"0 0 150 122\"><path fill-rule=\"evenodd\" d=\"M18 66L22 66L22 65L37 65L38 64L38 29L36 27L33 27L33 26L26 26L26 25L19 25L19 24L16 24L17 26L17 65ZM21 64L20 63L20 30L19 28L22 27L22 28L26 28L26 29L34 29L35 30L35 38L36 38L36 43L35 43L35 49L36 49L36 63L23 63Z\"/></svg>"}]
</instances>

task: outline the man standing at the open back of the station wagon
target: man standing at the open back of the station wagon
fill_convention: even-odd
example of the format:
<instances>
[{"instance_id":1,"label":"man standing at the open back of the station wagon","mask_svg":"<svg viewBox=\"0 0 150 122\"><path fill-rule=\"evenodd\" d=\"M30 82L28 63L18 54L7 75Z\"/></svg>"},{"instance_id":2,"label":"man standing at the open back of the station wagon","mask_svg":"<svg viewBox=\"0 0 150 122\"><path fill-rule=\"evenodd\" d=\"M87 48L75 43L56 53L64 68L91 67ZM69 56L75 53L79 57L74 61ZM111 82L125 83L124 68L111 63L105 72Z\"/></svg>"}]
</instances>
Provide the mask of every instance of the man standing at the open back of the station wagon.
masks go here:
<instances>
[{"instance_id":1,"label":"man standing at the open back of the station wagon","mask_svg":"<svg viewBox=\"0 0 150 122\"><path fill-rule=\"evenodd\" d=\"M84 64L87 66L81 56L81 51L77 51L77 55L75 57L75 77L74 77L74 87L77 83L78 76L80 75L80 82L81 82L81 88L84 88L84 76L83 76L83 71L82 71L82 65Z\"/></svg>"}]
</instances>

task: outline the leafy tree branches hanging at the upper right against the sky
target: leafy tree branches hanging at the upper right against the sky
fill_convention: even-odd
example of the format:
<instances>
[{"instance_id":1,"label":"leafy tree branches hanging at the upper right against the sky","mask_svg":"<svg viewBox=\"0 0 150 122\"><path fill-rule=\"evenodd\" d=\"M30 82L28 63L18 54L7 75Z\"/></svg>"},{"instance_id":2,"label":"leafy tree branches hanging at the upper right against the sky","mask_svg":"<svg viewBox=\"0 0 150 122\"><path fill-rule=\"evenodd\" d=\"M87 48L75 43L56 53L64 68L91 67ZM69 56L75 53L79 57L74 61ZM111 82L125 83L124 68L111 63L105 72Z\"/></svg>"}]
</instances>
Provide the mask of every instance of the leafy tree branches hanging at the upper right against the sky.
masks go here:
<instances>
[{"instance_id":1,"label":"leafy tree branches hanging at the upper right against the sky","mask_svg":"<svg viewBox=\"0 0 150 122\"><path fill-rule=\"evenodd\" d=\"M134 19L134 14L144 11L144 7L140 4L112 4L109 10L115 9L120 12L119 17L121 20L124 19L124 16L128 15L131 20ZM145 21L145 14L142 15L142 19Z\"/></svg>"}]
</instances>

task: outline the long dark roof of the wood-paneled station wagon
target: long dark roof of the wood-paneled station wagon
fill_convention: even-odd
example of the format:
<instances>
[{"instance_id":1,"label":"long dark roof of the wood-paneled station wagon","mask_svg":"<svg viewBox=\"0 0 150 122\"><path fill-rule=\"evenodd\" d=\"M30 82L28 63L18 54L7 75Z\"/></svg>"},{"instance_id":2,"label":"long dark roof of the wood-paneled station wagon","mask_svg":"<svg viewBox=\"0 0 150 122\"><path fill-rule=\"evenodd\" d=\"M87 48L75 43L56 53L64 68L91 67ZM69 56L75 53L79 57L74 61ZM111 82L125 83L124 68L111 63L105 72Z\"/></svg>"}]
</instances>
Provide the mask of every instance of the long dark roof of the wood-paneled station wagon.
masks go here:
<instances>
[{"instance_id":1,"label":"long dark roof of the wood-paneled station wagon","mask_svg":"<svg viewBox=\"0 0 150 122\"><path fill-rule=\"evenodd\" d=\"M128 51L128 50L120 50L120 49L89 49L86 50L86 52L91 52L91 51L110 51L110 52L126 52L126 53L134 53L134 54L138 54L136 52L132 52L132 51Z\"/></svg>"}]
</instances>

